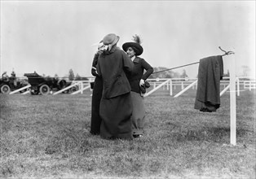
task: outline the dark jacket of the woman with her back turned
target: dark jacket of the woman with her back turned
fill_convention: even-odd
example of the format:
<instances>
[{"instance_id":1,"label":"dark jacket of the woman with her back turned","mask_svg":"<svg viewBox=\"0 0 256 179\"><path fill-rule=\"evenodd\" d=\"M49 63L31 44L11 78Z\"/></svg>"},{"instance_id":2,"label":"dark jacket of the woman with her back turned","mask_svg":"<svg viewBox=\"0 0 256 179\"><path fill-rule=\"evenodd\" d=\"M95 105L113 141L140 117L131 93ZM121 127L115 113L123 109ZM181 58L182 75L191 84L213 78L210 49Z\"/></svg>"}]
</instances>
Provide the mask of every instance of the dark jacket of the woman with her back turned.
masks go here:
<instances>
[{"instance_id":1,"label":"dark jacket of the woman with her back turned","mask_svg":"<svg viewBox=\"0 0 256 179\"><path fill-rule=\"evenodd\" d=\"M127 76L134 64L123 50L113 46L110 52L99 55L97 72L103 79L102 98L114 98L130 92Z\"/></svg>"}]
</instances>

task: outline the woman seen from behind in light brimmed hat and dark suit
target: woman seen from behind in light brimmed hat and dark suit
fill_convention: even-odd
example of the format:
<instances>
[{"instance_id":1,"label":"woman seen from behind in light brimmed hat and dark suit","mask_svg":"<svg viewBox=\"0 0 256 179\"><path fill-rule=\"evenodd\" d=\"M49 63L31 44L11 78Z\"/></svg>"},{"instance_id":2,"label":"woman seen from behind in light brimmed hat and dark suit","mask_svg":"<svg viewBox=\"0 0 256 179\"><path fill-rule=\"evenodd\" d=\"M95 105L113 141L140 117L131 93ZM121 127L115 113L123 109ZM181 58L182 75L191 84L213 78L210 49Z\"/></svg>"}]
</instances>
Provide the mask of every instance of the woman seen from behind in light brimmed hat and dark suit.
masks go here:
<instances>
[{"instance_id":1,"label":"woman seen from behind in light brimmed hat and dark suit","mask_svg":"<svg viewBox=\"0 0 256 179\"><path fill-rule=\"evenodd\" d=\"M101 138L133 139L131 133L132 103L130 75L134 64L123 50L117 48L119 37L113 33L104 37L104 52L99 55L97 72L103 80L99 105Z\"/></svg>"}]
</instances>

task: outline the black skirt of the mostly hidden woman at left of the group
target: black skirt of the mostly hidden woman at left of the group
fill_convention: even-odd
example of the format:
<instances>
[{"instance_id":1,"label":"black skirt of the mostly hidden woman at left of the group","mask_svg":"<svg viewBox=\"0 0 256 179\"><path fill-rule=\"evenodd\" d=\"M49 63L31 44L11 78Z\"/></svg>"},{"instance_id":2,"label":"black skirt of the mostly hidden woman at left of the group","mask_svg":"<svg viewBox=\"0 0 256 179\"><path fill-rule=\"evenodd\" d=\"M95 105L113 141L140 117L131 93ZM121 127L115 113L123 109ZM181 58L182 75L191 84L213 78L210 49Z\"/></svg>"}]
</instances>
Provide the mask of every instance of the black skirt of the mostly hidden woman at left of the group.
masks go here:
<instances>
[{"instance_id":1,"label":"black skirt of the mostly hidden woman at left of the group","mask_svg":"<svg viewBox=\"0 0 256 179\"><path fill-rule=\"evenodd\" d=\"M102 96L103 83L99 77L95 78L95 84L92 91L91 98L91 119L90 119L90 133L98 135L100 132L101 118L99 116L99 104Z\"/></svg>"}]
</instances>

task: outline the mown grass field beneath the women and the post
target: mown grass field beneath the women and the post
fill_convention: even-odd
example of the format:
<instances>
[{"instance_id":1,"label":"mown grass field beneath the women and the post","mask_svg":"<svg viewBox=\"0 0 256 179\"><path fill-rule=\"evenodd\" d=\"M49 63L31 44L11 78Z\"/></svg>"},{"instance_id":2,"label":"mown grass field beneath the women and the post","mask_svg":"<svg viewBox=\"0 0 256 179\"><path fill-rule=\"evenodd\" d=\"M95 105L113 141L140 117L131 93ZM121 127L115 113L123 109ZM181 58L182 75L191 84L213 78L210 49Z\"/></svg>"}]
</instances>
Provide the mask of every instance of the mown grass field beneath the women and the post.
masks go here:
<instances>
[{"instance_id":1,"label":"mown grass field beneath the women and the post","mask_svg":"<svg viewBox=\"0 0 256 179\"><path fill-rule=\"evenodd\" d=\"M0 178L255 178L255 91L229 94L216 112L193 109L195 90L145 98L143 138L104 140L90 130L90 92L0 94Z\"/></svg>"}]
</instances>

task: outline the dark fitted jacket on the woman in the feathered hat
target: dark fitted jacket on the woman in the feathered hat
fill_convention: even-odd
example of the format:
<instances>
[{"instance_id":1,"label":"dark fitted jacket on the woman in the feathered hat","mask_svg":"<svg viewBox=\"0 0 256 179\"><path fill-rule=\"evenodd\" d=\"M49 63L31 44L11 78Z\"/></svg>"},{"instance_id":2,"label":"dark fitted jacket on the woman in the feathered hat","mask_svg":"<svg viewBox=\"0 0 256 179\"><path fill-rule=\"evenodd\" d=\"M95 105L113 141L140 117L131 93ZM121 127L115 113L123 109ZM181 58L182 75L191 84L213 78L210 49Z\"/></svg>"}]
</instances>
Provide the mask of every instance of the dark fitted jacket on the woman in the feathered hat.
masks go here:
<instances>
[{"instance_id":1,"label":"dark fitted jacket on the woman in the feathered hat","mask_svg":"<svg viewBox=\"0 0 256 179\"><path fill-rule=\"evenodd\" d=\"M139 81L143 79L144 81L148 79L148 76L154 71L152 66L146 62L146 60L136 57L133 61L135 68L131 72L128 80L130 82L131 90L140 94ZM144 70L146 70L145 73Z\"/></svg>"}]
</instances>

